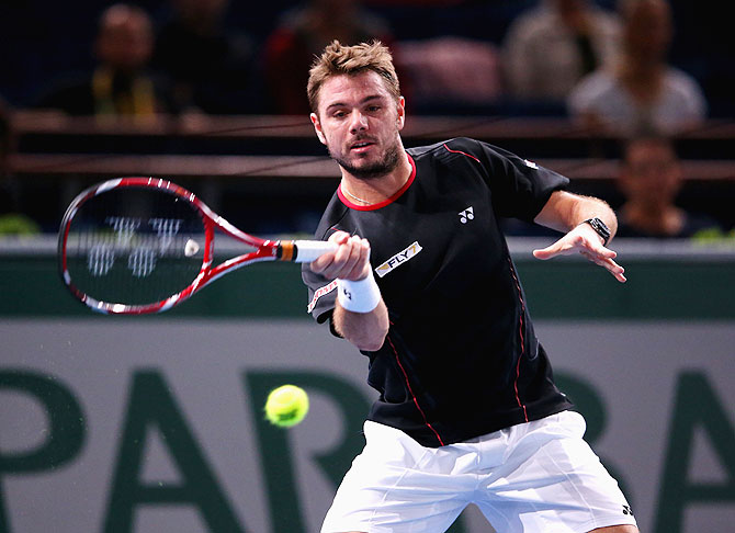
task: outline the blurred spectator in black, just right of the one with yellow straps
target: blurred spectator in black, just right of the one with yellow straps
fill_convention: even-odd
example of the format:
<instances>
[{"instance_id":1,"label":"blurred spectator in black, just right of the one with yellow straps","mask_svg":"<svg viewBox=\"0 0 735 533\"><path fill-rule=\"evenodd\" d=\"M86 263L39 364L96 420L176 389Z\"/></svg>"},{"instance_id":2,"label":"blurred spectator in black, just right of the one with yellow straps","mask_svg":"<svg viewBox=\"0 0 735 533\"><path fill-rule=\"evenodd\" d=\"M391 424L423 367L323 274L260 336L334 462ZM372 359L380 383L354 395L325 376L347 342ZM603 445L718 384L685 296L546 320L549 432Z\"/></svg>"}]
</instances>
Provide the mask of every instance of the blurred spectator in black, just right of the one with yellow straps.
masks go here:
<instances>
[{"instance_id":1,"label":"blurred spectator in black, just right of the one with yellow straps","mask_svg":"<svg viewBox=\"0 0 735 533\"><path fill-rule=\"evenodd\" d=\"M172 18L156 41L154 66L173 83L177 106L208 114L258 110L253 88L255 46L228 33L228 0L171 0Z\"/></svg>"}]
</instances>

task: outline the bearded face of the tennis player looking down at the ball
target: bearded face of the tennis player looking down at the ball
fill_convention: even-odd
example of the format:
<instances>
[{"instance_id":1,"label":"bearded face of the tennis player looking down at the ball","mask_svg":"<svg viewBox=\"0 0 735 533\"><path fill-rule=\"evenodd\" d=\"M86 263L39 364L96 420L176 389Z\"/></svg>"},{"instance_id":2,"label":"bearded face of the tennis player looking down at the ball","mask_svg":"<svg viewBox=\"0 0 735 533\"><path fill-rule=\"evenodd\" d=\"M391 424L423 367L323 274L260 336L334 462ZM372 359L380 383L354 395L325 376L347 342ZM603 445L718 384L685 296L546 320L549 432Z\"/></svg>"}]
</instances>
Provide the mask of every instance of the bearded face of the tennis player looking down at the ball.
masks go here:
<instances>
[{"instance_id":1,"label":"bearded face of the tennis player looking down at the ball","mask_svg":"<svg viewBox=\"0 0 735 533\"><path fill-rule=\"evenodd\" d=\"M355 178L380 178L398 166L404 99L396 101L377 72L329 78L312 122L331 158Z\"/></svg>"}]
</instances>

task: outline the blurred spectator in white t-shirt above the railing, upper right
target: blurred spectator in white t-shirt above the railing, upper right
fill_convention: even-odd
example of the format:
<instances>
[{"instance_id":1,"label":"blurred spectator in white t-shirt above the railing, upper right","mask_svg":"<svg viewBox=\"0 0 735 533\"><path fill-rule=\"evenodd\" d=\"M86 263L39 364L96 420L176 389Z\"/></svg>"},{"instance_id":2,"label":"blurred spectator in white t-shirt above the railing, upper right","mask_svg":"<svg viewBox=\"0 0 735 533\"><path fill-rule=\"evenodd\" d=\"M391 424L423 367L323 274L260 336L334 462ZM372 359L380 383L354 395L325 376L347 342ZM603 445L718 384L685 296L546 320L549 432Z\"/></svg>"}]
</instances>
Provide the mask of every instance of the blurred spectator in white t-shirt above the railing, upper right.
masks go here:
<instances>
[{"instance_id":1,"label":"blurred spectator in white t-shirt above the railing, upper right","mask_svg":"<svg viewBox=\"0 0 735 533\"><path fill-rule=\"evenodd\" d=\"M595 129L666 134L699 124L706 102L697 81L670 67L671 9L666 0L622 0L623 46L614 68L592 72L573 90L570 114Z\"/></svg>"}]
</instances>

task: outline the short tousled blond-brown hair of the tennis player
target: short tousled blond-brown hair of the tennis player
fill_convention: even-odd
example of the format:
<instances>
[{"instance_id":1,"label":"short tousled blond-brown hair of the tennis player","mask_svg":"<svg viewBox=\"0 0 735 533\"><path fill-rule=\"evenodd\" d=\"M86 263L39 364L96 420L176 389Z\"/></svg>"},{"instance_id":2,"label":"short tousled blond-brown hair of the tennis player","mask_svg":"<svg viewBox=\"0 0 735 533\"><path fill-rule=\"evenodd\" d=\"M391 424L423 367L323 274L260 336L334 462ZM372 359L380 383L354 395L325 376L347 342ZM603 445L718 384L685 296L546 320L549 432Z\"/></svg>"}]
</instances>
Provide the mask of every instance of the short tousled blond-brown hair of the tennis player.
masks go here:
<instances>
[{"instance_id":1,"label":"short tousled blond-brown hair of the tennis player","mask_svg":"<svg viewBox=\"0 0 735 533\"><path fill-rule=\"evenodd\" d=\"M309 69L306 95L312 111L318 112L319 90L329 78L339 75L355 76L366 70L377 72L393 98L396 101L400 99L398 76L387 46L380 41L354 46L343 46L339 41L332 41Z\"/></svg>"}]
</instances>

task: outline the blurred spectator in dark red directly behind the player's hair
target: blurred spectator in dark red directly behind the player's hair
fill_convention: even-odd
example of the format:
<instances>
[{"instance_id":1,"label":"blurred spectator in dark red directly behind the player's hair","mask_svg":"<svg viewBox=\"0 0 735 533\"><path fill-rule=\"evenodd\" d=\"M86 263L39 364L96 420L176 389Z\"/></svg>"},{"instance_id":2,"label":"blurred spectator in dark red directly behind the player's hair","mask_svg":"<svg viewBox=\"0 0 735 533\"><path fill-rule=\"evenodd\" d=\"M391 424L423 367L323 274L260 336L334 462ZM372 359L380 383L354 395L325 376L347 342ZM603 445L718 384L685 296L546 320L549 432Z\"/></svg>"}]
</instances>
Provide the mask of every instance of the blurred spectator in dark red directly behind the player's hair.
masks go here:
<instances>
[{"instance_id":1,"label":"blurred spectator in dark red directly behind the player's hair","mask_svg":"<svg viewBox=\"0 0 735 533\"><path fill-rule=\"evenodd\" d=\"M310 112L304 87L314 57L335 39L357 44L393 38L381 19L362 10L359 0L308 0L287 12L265 44L265 80L271 110L279 114Z\"/></svg>"}]
</instances>

